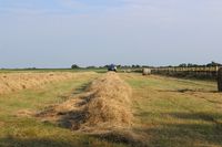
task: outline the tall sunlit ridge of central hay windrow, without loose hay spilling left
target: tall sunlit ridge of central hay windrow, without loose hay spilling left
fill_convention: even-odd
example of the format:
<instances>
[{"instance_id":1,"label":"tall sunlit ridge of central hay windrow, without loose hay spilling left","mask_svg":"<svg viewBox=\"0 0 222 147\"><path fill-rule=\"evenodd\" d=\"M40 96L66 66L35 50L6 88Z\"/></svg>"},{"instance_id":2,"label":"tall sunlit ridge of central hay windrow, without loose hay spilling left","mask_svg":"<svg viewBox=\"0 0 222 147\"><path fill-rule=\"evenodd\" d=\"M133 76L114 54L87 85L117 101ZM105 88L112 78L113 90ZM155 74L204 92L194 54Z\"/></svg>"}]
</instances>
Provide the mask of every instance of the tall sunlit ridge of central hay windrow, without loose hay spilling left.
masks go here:
<instances>
[{"instance_id":1,"label":"tall sunlit ridge of central hay windrow, without loose hay spilling left","mask_svg":"<svg viewBox=\"0 0 222 147\"><path fill-rule=\"evenodd\" d=\"M81 129L95 127L130 127L132 124L131 87L118 74L109 72L92 82L88 92L93 92L85 105L87 122Z\"/></svg>"}]
</instances>

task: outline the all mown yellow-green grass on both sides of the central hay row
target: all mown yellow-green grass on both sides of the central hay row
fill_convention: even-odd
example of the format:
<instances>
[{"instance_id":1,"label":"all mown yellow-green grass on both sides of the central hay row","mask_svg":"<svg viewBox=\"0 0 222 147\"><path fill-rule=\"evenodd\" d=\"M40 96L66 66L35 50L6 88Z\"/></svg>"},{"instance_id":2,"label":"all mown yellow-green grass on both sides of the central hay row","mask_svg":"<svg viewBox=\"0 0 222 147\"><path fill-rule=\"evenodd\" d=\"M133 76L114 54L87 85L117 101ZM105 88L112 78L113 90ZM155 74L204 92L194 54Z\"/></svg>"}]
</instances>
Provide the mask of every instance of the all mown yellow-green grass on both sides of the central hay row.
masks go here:
<instances>
[{"instance_id":1,"label":"all mown yellow-green grass on both sides of the central hay row","mask_svg":"<svg viewBox=\"0 0 222 147\"><path fill-rule=\"evenodd\" d=\"M101 74L0 95L0 146L130 146L71 132L19 112L38 112L81 93ZM121 73L133 90L133 130L151 147L222 146L222 94L206 81Z\"/></svg>"}]
</instances>

